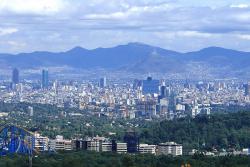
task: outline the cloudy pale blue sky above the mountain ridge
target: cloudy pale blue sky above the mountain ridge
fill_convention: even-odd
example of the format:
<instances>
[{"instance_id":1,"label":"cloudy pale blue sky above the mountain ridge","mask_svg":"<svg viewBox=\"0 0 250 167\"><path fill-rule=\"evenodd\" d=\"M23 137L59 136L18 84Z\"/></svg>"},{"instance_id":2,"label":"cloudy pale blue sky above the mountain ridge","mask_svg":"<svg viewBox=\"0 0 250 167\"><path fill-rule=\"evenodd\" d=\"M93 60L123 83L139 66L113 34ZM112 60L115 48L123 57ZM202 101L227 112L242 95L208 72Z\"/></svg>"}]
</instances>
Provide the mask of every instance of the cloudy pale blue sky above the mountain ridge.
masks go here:
<instances>
[{"instance_id":1,"label":"cloudy pale blue sky above the mountain ridge","mask_svg":"<svg viewBox=\"0 0 250 167\"><path fill-rule=\"evenodd\" d=\"M0 53L130 42L250 51L250 0L0 0Z\"/></svg>"}]
</instances>

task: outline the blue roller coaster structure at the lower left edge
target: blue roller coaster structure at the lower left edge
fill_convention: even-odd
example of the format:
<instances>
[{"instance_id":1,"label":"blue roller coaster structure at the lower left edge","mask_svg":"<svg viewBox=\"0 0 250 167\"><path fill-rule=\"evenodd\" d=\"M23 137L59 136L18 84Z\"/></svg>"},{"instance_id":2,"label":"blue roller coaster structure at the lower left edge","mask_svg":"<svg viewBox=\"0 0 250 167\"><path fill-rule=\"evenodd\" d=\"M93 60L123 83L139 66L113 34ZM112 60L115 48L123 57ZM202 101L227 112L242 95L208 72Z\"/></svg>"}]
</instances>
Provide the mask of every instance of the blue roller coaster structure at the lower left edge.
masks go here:
<instances>
[{"instance_id":1,"label":"blue roller coaster structure at the lower left edge","mask_svg":"<svg viewBox=\"0 0 250 167\"><path fill-rule=\"evenodd\" d=\"M0 156L14 153L32 156L34 148L35 137L31 132L13 125L0 129Z\"/></svg>"}]
</instances>

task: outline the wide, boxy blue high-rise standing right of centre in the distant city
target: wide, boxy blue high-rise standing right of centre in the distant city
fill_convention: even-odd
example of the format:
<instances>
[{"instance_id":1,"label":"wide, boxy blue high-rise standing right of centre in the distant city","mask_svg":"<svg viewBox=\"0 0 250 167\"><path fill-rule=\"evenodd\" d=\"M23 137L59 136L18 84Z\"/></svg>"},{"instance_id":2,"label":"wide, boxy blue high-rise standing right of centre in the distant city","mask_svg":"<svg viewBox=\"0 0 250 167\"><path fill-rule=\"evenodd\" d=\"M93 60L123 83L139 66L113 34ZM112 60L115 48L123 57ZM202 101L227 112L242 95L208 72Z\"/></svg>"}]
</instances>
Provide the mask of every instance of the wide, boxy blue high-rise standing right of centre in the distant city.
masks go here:
<instances>
[{"instance_id":1,"label":"wide, boxy blue high-rise standing right of centre in the distant city","mask_svg":"<svg viewBox=\"0 0 250 167\"><path fill-rule=\"evenodd\" d=\"M159 80L153 80L152 77L148 77L147 80L142 82L142 93L145 94L154 94L159 93Z\"/></svg>"}]
</instances>

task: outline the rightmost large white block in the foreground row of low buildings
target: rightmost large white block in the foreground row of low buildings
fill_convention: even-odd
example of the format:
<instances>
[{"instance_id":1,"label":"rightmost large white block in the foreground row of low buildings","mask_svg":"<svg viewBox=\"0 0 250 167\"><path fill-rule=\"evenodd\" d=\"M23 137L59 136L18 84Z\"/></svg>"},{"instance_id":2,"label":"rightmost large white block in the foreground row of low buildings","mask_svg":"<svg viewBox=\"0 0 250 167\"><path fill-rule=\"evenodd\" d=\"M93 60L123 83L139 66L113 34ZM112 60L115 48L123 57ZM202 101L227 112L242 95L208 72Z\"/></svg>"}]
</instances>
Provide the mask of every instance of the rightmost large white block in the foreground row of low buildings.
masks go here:
<instances>
[{"instance_id":1,"label":"rightmost large white block in the foreground row of low buildings","mask_svg":"<svg viewBox=\"0 0 250 167\"><path fill-rule=\"evenodd\" d=\"M160 143L157 148L158 155L182 155L182 145L175 142Z\"/></svg>"}]
</instances>

